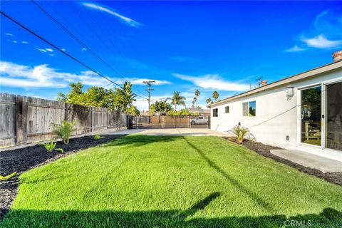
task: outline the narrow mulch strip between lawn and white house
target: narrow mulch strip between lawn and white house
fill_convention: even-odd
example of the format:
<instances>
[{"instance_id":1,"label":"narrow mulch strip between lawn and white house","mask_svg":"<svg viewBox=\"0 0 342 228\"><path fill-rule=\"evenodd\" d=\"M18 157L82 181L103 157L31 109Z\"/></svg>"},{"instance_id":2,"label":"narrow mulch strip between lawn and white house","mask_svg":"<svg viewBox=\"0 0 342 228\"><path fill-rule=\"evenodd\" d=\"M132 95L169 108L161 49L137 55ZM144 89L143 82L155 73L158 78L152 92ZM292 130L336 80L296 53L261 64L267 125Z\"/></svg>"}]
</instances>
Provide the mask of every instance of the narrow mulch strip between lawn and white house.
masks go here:
<instances>
[{"instance_id":1,"label":"narrow mulch strip between lawn and white house","mask_svg":"<svg viewBox=\"0 0 342 228\"><path fill-rule=\"evenodd\" d=\"M231 141L231 142L237 142L237 139L234 137L224 137L225 139ZM257 152L259 155L262 155L264 157L269 157L273 160L276 160L278 162L284 163L286 165L289 165L291 167L294 167L296 170L299 170L301 172L305 172L309 175L314 175L316 177L322 178L324 180L327 180L328 182L334 183L336 185L342 186L342 172L321 172L321 170L316 170L310 167L305 167L304 165L299 165L295 162L292 162L290 160L286 160L282 157L278 157L270 152L270 150L279 150L282 149L280 147L274 147L271 145L264 145L261 142L253 142L249 140L244 140L241 144L244 147L249 148L249 150L253 150L254 152Z\"/></svg>"}]
</instances>

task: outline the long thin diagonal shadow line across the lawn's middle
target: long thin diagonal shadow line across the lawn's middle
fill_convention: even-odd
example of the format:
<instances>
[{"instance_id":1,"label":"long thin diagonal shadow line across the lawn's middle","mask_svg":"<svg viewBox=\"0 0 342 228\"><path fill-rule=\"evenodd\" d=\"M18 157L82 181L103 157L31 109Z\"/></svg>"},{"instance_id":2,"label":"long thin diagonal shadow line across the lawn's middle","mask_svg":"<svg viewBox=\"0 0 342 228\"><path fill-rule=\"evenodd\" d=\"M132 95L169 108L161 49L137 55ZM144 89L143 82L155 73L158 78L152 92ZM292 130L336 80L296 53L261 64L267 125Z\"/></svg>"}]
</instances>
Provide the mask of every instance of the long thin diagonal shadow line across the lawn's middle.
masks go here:
<instances>
[{"instance_id":1,"label":"long thin diagonal shadow line across the lawn's middle","mask_svg":"<svg viewBox=\"0 0 342 228\"><path fill-rule=\"evenodd\" d=\"M198 152L198 154L207 162L207 164L210 167L212 167L214 170L219 172L219 174L222 175L222 177L228 180L232 184L232 186L236 187L239 191L243 192L245 195L253 199L255 202L257 202L257 204L259 204L259 206L263 207L264 209L268 211L274 211L274 208L272 208L270 204L268 204L263 199L258 197L254 192L251 192L250 190L242 186L237 180L231 177L227 172L224 172L224 170L222 170L218 165L216 165L212 160L210 160L209 157L207 157L205 153L201 149L199 149L199 147L193 145L189 140L187 140L187 138L183 138L183 139L187 142L188 145L194 148L196 152Z\"/></svg>"}]
</instances>

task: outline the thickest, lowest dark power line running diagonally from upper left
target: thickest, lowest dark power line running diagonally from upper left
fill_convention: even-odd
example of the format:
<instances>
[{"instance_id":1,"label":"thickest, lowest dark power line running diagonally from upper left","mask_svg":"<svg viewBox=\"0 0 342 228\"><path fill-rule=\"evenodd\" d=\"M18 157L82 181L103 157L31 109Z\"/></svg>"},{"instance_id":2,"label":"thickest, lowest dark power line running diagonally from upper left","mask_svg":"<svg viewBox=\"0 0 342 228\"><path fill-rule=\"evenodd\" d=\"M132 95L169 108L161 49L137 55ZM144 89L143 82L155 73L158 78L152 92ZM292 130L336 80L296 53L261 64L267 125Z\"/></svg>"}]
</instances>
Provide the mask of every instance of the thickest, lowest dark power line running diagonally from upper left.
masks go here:
<instances>
[{"instance_id":1,"label":"thickest, lowest dark power line running diagonally from upper left","mask_svg":"<svg viewBox=\"0 0 342 228\"><path fill-rule=\"evenodd\" d=\"M118 83L115 83L114 81L111 81L109 78L103 76L103 74L99 73L98 71L95 71L93 68L90 68L90 66L86 65L86 63L83 63L81 61L79 61L77 58L71 56L69 53L67 53L66 51L61 50L61 48L58 48L58 46L56 46L55 44L51 43L50 41L48 41L46 38L43 38L42 36L38 35L37 33L35 33L34 31L32 31L30 28L26 27L24 24L21 24L21 22L16 21L16 19L12 18L11 16L9 16L8 14L4 13L3 11L0 11L0 13L5 16L7 19L13 21L15 24L21 26L21 28L24 28L26 31L28 31L29 33L33 34L33 36L38 37L39 39L41 39L42 41L44 41L45 43L48 43L50 46L52 46L53 48L56 48L58 51L60 51L61 53L63 53L64 55L68 56L69 58L72 58L73 61L76 61L77 63L80 63L82 66L88 68L90 71L92 71L93 73L96 73L98 76L105 78L105 80L110 81L111 83L115 84L116 86L119 86L120 88L122 88L122 86L120 86Z\"/></svg>"}]
</instances>

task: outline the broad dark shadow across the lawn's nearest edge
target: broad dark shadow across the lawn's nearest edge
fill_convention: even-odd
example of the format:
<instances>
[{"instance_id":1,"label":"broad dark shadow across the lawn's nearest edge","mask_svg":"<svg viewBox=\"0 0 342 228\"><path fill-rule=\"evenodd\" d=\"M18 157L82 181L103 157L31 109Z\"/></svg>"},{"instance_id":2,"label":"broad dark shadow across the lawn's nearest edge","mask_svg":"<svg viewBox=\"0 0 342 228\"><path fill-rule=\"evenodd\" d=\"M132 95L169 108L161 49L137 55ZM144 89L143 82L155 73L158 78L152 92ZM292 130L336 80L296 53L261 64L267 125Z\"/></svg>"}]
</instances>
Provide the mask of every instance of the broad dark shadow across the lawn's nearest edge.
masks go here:
<instances>
[{"instance_id":1,"label":"broad dark shadow across the lawn's nearest edge","mask_svg":"<svg viewBox=\"0 0 342 228\"><path fill-rule=\"evenodd\" d=\"M120 211L43 211L11 210L0 227L341 227L342 213L326 208L320 214L294 217L219 217L187 219L202 207L180 210ZM188 213L189 212L189 213ZM301 224L301 225L300 225ZM287 226L286 226L287 225Z\"/></svg>"}]
</instances>

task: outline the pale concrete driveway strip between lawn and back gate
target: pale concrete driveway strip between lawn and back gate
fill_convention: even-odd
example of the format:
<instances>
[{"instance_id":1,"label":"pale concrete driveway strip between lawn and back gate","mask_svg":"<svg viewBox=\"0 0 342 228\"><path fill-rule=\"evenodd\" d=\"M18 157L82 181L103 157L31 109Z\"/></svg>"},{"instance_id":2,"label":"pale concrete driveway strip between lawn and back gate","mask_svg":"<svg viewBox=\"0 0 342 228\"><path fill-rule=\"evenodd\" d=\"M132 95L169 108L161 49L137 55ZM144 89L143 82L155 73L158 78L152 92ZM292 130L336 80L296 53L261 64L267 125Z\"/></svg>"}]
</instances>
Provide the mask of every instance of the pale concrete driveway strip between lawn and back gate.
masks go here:
<instances>
[{"instance_id":1,"label":"pale concrete driveway strip between lawn and back gate","mask_svg":"<svg viewBox=\"0 0 342 228\"><path fill-rule=\"evenodd\" d=\"M113 132L113 134L142 134L142 135L192 135L192 136L229 136L207 128L156 128L156 129L128 129Z\"/></svg>"}]
</instances>

